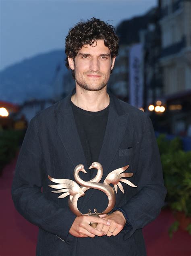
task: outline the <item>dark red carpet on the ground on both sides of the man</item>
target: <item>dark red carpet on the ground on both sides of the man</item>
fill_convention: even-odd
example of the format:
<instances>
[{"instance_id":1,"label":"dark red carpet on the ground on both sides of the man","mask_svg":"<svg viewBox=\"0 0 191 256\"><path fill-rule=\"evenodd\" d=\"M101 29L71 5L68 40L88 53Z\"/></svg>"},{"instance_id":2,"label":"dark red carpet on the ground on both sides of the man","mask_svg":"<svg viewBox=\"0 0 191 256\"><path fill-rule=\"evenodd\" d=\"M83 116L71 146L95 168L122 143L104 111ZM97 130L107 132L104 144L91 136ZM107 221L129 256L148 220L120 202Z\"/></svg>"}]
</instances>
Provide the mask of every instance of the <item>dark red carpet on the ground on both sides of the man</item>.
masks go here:
<instances>
[{"instance_id":1,"label":"dark red carpet on the ground on both sides of the man","mask_svg":"<svg viewBox=\"0 0 191 256\"><path fill-rule=\"evenodd\" d=\"M0 256L34 256L38 229L14 208L10 188L16 159L4 168L0 177ZM148 256L190 256L191 236L179 230L172 239L168 227L174 221L169 210L143 229Z\"/></svg>"}]
</instances>

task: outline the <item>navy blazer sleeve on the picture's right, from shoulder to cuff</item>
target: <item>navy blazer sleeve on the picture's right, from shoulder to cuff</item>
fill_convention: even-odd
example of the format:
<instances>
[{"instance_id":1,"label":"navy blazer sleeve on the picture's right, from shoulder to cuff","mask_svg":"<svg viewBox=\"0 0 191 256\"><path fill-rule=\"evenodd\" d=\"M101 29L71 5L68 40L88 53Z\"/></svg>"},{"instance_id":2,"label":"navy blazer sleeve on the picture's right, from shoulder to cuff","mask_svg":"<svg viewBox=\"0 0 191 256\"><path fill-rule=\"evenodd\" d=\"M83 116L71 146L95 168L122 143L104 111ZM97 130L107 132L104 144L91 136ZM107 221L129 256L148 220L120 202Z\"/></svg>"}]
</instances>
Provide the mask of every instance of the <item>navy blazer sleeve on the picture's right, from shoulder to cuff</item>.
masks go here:
<instances>
[{"instance_id":1,"label":"navy blazer sleeve on the picture's right, from shoulder to cuff","mask_svg":"<svg viewBox=\"0 0 191 256\"><path fill-rule=\"evenodd\" d=\"M127 216L124 239L156 219L166 196L160 154L149 117L145 121L134 183L137 194L127 204L120 206Z\"/></svg>"}]
</instances>

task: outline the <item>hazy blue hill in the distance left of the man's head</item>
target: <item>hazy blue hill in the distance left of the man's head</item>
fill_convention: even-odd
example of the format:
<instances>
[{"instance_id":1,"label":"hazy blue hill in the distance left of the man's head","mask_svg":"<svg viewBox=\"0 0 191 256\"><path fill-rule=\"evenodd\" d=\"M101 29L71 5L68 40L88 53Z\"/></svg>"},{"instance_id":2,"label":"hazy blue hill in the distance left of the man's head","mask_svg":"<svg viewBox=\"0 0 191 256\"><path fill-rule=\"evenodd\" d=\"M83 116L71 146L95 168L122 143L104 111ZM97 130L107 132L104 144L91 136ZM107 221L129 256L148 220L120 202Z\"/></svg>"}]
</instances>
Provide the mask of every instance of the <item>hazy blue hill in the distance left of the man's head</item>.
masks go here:
<instances>
[{"instance_id":1,"label":"hazy blue hill in the distance left of the man's head","mask_svg":"<svg viewBox=\"0 0 191 256\"><path fill-rule=\"evenodd\" d=\"M64 50L27 58L0 72L0 100L22 104L31 99L50 99L62 94Z\"/></svg>"}]
</instances>

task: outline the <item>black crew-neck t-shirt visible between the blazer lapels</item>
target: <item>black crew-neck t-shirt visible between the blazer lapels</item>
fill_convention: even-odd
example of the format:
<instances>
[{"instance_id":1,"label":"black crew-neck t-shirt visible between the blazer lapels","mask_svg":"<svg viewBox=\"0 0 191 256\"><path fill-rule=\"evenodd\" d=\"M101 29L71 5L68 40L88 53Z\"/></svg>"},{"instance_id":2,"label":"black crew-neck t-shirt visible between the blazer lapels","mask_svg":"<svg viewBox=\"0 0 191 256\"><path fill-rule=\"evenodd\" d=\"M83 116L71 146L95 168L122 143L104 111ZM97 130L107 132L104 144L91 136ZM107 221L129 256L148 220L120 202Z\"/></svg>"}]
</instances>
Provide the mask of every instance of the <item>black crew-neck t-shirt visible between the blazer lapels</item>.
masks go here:
<instances>
[{"instance_id":1,"label":"black crew-neck t-shirt visible between the blazer lapels","mask_svg":"<svg viewBox=\"0 0 191 256\"><path fill-rule=\"evenodd\" d=\"M92 162L98 162L106 131L109 106L101 111L91 112L75 106L73 102L71 104L77 131L89 167Z\"/></svg>"}]
</instances>

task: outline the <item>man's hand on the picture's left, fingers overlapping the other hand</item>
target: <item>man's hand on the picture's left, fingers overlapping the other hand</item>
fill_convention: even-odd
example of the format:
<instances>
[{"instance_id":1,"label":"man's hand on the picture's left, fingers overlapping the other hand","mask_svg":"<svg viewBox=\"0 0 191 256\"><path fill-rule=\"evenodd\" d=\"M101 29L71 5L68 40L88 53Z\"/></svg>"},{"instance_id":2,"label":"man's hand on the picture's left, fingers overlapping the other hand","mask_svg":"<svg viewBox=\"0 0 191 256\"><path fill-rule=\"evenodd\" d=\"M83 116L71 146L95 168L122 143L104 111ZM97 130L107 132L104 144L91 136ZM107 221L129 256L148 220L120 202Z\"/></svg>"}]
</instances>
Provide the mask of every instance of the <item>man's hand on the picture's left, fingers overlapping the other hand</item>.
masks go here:
<instances>
[{"instance_id":1,"label":"man's hand on the picture's left, fingers overlapping the other hand","mask_svg":"<svg viewBox=\"0 0 191 256\"><path fill-rule=\"evenodd\" d=\"M104 217L106 216L106 214L103 214L103 215ZM69 233L75 237L95 237L95 235L98 235L101 237L103 235L106 235L104 231L99 231L89 225L89 223L93 222L93 223L99 223L99 225L102 225L102 226L109 227L110 222L102 218L87 216L87 215L78 216L74 220L71 226L71 229L69 230Z\"/></svg>"}]
</instances>

